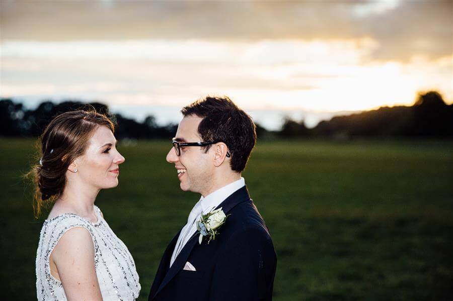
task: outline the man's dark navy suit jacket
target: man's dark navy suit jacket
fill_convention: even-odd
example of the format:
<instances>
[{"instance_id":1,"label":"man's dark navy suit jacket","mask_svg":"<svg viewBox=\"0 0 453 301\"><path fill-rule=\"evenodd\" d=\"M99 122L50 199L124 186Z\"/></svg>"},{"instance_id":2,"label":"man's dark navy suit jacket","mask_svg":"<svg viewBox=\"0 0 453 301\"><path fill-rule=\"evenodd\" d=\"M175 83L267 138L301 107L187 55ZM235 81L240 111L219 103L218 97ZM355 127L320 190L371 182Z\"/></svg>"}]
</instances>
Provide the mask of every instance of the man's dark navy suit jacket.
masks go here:
<instances>
[{"instance_id":1,"label":"man's dark navy suit jacket","mask_svg":"<svg viewBox=\"0 0 453 301\"><path fill-rule=\"evenodd\" d=\"M226 222L215 240L201 245L192 236L172 267L170 258L178 240L164 252L149 292L150 300L271 300L277 266L272 239L246 187L226 198ZM189 261L196 271L183 270Z\"/></svg>"}]
</instances>

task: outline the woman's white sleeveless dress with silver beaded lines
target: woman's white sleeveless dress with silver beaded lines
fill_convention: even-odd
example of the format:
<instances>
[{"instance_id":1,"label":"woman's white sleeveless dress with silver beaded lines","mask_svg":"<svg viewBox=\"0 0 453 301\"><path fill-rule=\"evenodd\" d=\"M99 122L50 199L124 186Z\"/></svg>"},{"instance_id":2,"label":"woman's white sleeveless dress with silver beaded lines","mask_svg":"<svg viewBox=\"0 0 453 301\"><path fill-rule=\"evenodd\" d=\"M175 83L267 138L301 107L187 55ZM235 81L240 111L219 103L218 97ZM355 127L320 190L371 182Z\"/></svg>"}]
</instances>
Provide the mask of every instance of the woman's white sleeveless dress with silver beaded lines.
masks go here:
<instances>
[{"instance_id":1,"label":"woman's white sleeveless dress with silver beaded lines","mask_svg":"<svg viewBox=\"0 0 453 301\"><path fill-rule=\"evenodd\" d=\"M36 252L38 300L66 300L63 285L50 274L49 258L61 236L69 229L83 227L93 239L95 267L102 298L134 300L140 293L135 263L126 245L113 233L95 206L96 223L75 214L62 214L44 221Z\"/></svg>"}]
</instances>

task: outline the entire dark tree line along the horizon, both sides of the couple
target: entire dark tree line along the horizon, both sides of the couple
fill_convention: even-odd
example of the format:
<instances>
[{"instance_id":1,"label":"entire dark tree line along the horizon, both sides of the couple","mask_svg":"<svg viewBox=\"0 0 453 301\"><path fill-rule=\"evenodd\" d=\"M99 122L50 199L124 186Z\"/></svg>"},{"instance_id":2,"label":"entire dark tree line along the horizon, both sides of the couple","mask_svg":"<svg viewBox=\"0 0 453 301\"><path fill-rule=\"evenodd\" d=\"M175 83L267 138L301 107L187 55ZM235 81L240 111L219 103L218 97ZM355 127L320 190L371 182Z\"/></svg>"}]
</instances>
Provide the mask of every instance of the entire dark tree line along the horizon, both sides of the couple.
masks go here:
<instances>
[{"instance_id":1,"label":"entire dark tree line along the horizon, both sides of the couple","mask_svg":"<svg viewBox=\"0 0 453 301\"><path fill-rule=\"evenodd\" d=\"M84 108L94 108L108 115L118 125L118 139L168 139L173 137L177 124L159 126L156 118L147 116L143 122L126 118L121 114L110 114L109 108L101 103L65 101L55 104L42 102L36 109L27 110L11 98L0 100L0 136L36 137L56 115ZM260 138L310 138L325 137L349 139L356 137L431 137L453 138L453 105L446 105L436 91L419 94L412 106L382 107L348 116L333 117L321 121L310 129L305 122L286 118L279 131L268 131L257 124Z\"/></svg>"}]
</instances>

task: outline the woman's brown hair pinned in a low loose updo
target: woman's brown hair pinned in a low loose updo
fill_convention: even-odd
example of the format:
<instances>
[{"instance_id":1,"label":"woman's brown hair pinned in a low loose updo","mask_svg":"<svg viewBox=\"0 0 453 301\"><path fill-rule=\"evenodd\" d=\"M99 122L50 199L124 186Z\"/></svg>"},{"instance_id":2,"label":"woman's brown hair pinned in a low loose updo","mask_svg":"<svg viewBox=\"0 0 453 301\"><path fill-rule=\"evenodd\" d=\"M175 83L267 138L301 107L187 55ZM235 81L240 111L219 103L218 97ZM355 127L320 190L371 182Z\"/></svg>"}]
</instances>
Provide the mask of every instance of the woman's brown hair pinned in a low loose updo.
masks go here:
<instances>
[{"instance_id":1,"label":"woman's brown hair pinned in a low loose updo","mask_svg":"<svg viewBox=\"0 0 453 301\"><path fill-rule=\"evenodd\" d=\"M44 206L52 204L61 195L66 185L67 168L85 153L98 126L106 126L115 132L113 122L94 109L62 113L47 125L38 141L41 160L26 175L36 186L36 218Z\"/></svg>"}]
</instances>

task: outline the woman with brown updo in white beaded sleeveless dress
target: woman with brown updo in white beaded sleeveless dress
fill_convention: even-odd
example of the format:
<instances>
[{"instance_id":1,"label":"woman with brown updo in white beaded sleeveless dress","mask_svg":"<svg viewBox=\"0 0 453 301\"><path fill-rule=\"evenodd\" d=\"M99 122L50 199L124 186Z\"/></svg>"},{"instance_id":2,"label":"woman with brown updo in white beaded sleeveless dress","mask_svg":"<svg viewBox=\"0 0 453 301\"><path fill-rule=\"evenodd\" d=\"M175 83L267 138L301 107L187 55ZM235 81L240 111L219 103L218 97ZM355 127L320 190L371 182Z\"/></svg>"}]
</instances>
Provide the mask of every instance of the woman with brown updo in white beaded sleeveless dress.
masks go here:
<instances>
[{"instance_id":1,"label":"woman with brown updo in white beaded sleeveless dress","mask_svg":"<svg viewBox=\"0 0 453 301\"><path fill-rule=\"evenodd\" d=\"M118 185L124 157L114 125L96 112L72 111L53 119L41 136L42 158L29 173L35 211L53 207L36 254L39 300L133 300L140 283L135 263L94 205L103 188Z\"/></svg>"}]
</instances>

